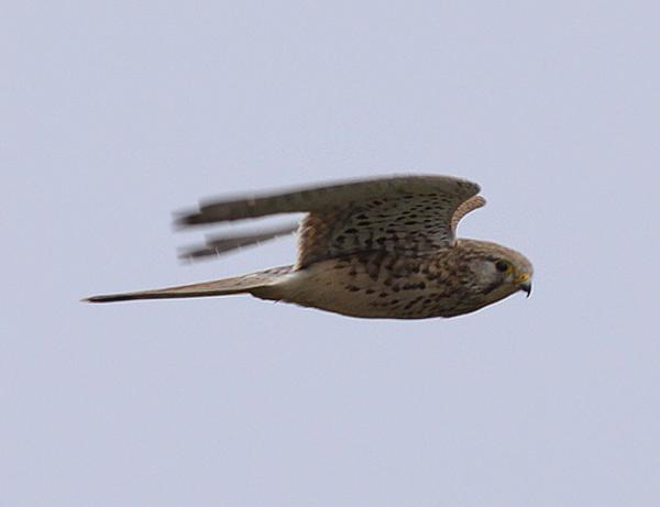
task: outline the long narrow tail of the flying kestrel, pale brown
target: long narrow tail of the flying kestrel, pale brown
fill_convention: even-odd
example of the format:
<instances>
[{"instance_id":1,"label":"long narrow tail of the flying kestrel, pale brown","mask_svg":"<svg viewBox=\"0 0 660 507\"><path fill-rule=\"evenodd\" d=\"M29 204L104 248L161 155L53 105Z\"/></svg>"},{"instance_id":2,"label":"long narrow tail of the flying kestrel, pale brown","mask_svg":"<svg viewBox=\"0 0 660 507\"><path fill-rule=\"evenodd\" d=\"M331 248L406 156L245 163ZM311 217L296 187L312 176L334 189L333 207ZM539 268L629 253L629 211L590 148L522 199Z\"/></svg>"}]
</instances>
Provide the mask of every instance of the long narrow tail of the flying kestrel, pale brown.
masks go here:
<instances>
[{"instance_id":1,"label":"long narrow tail of the flying kestrel, pale brown","mask_svg":"<svg viewBox=\"0 0 660 507\"><path fill-rule=\"evenodd\" d=\"M230 294L253 294L257 297L268 297L267 287L276 283L282 276L290 273L293 266L273 267L250 275L224 278L200 284L166 287L162 289L141 290L138 293L106 294L82 299L86 302L114 302L130 301L133 299L173 299L197 298L206 296L226 296Z\"/></svg>"}]
</instances>

